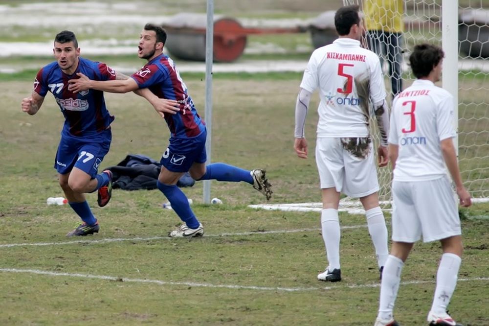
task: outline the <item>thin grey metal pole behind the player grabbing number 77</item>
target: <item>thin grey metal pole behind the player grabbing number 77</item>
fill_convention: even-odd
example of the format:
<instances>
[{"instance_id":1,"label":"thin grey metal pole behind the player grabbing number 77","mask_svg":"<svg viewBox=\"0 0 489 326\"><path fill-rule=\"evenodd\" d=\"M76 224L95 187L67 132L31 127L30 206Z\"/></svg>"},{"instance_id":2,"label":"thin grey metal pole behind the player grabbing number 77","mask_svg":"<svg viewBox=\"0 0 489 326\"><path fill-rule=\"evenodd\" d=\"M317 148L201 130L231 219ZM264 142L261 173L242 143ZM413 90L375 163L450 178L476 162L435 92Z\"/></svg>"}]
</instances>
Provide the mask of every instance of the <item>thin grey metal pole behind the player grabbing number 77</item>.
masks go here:
<instances>
[{"instance_id":1,"label":"thin grey metal pole behind the player grabbing number 77","mask_svg":"<svg viewBox=\"0 0 489 326\"><path fill-rule=\"evenodd\" d=\"M214 59L214 0L207 0L207 29L205 30L205 125L207 126L207 140L205 151L207 162L211 163L212 149L212 62ZM204 204L211 202L211 181L203 182Z\"/></svg>"}]
</instances>

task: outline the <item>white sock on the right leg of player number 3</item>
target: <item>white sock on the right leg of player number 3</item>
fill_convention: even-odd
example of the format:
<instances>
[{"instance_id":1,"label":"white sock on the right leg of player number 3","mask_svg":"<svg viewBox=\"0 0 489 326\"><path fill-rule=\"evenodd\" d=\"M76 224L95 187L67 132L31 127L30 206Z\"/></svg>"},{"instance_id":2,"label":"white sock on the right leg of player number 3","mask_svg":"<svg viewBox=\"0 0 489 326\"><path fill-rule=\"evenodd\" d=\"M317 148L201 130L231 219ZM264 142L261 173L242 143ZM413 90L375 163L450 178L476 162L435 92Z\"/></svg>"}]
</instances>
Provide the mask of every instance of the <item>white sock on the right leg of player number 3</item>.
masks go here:
<instances>
[{"instance_id":1,"label":"white sock on the right leg of player number 3","mask_svg":"<svg viewBox=\"0 0 489 326\"><path fill-rule=\"evenodd\" d=\"M445 315L453 291L457 285L458 271L462 258L455 254L443 254L436 274L436 289L431 305L435 315Z\"/></svg>"}]
</instances>

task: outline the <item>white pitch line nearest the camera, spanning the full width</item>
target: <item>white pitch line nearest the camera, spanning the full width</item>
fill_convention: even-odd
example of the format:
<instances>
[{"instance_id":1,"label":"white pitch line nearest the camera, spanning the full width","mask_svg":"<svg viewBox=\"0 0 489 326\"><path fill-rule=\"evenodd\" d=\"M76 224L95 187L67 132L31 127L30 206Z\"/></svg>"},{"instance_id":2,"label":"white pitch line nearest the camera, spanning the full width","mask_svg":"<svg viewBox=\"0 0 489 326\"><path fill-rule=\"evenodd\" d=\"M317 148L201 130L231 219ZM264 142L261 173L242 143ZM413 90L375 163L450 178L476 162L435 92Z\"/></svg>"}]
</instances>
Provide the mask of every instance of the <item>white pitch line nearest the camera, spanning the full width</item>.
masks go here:
<instances>
[{"instance_id":1,"label":"white pitch line nearest the camera, spanning the full width","mask_svg":"<svg viewBox=\"0 0 489 326\"><path fill-rule=\"evenodd\" d=\"M195 287L209 287L209 288L226 288L226 289L244 289L244 290L259 290L259 291L279 291L279 292L304 292L304 291L317 291L317 290L333 290L333 289L358 289L358 288L374 288L379 287L379 283L371 284L345 284L339 286L326 286L326 287L273 287L273 286L255 286L255 285L236 285L236 284L211 284L211 283L196 283L196 282L174 282L163 281L159 279L129 279L120 278L108 275L92 275L92 274L80 274L80 273L57 273L42 271L38 269L17 269L17 268L0 268L0 272L6 273L27 273L36 275L47 276L61 276L70 278L84 278L84 279L103 279L120 282L134 282L134 283L152 283L158 285L184 285ZM488 281L489 278L471 278L471 279L458 279L459 282L467 281ZM411 284L426 284L435 283L435 280L413 280L401 282L401 285Z\"/></svg>"}]
</instances>

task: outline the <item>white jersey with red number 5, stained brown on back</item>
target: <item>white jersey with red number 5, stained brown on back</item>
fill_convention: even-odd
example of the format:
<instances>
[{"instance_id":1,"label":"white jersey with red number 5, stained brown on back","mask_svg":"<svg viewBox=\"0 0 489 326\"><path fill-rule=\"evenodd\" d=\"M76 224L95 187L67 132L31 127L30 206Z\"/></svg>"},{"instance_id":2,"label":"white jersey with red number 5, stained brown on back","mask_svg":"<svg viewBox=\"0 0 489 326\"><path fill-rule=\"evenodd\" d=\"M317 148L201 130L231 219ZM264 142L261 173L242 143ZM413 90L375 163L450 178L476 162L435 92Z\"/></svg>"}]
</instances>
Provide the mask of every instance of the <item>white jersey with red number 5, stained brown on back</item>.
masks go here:
<instances>
[{"instance_id":1,"label":"white jersey with red number 5, stained brown on back","mask_svg":"<svg viewBox=\"0 0 489 326\"><path fill-rule=\"evenodd\" d=\"M378 56L350 38L314 50L300 87L319 88L318 137L369 136L369 98L386 96Z\"/></svg>"}]
</instances>

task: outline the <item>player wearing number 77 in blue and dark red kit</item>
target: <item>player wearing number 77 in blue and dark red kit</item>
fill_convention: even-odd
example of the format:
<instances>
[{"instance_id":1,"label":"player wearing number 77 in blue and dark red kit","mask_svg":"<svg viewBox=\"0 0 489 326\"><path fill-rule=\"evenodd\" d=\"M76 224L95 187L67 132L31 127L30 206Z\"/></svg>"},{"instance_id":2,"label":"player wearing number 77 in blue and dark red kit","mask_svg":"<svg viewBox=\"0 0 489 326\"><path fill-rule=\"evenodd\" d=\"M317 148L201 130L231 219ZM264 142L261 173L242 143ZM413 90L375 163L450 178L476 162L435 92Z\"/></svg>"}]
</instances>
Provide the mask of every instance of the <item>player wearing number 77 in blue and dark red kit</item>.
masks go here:
<instances>
[{"instance_id":1,"label":"player wearing number 77 in blue and dark red kit","mask_svg":"<svg viewBox=\"0 0 489 326\"><path fill-rule=\"evenodd\" d=\"M22 99L22 111L35 115L44 97L51 92L58 103L65 123L56 153L54 168L59 173L59 183L71 208L82 222L67 236L98 233L98 221L93 216L85 193L98 190L98 204L103 207L111 198L111 172L98 173L98 167L111 146L111 116L105 105L104 93L96 90L73 93L68 81L83 73L95 80L127 79L109 66L80 57L76 36L62 31L54 39L56 61L39 70L30 97ZM156 98L149 90L139 90L139 95ZM153 96L153 97L152 97Z\"/></svg>"}]
</instances>

